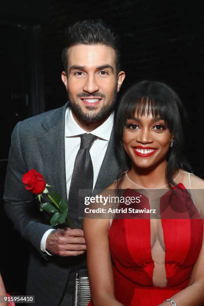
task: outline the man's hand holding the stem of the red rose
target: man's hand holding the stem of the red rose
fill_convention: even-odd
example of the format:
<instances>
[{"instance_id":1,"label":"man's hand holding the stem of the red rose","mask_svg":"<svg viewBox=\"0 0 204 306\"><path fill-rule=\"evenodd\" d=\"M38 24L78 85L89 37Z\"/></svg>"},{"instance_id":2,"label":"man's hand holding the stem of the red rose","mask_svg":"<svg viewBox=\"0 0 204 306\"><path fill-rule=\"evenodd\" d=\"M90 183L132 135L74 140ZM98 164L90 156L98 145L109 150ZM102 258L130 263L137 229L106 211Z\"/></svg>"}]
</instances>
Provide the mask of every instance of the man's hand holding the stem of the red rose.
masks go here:
<instances>
[{"instance_id":1,"label":"man's hand holding the stem of the red rose","mask_svg":"<svg viewBox=\"0 0 204 306\"><path fill-rule=\"evenodd\" d=\"M46 250L59 256L77 256L86 250L82 229L56 229L47 236Z\"/></svg>"}]
</instances>

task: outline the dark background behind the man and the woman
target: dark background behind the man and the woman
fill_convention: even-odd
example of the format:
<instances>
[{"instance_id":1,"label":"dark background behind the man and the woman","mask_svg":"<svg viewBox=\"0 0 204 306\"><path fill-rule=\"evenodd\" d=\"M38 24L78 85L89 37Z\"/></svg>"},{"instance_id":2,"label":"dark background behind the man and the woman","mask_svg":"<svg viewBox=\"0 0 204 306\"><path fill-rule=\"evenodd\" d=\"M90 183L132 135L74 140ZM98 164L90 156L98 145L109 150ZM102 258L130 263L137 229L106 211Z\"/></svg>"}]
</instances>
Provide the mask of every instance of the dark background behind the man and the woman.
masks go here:
<instances>
[{"instance_id":1,"label":"dark background behind the man and the woman","mask_svg":"<svg viewBox=\"0 0 204 306\"><path fill-rule=\"evenodd\" d=\"M2 193L10 133L17 121L62 106L60 74L64 28L102 18L122 41L126 78L167 82L189 115L185 155L204 178L203 6L179 0L18 0L0 4L0 271L7 292L25 292L29 245L3 212Z\"/></svg>"}]
</instances>

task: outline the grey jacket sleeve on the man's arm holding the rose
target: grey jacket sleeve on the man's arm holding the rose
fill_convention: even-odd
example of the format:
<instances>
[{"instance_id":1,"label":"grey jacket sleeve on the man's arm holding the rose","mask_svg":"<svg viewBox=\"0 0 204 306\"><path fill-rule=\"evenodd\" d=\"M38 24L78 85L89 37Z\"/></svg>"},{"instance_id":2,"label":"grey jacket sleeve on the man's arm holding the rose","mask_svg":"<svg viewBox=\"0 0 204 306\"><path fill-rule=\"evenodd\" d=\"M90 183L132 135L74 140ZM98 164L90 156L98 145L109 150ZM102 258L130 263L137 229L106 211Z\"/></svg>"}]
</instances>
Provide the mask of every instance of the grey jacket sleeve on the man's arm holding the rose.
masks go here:
<instances>
[{"instance_id":1,"label":"grey jacket sleeve on the man's arm holding the rose","mask_svg":"<svg viewBox=\"0 0 204 306\"><path fill-rule=\"evenodd\" d=\"M3 194L4 209L22 237L28 240L47 259L46 255L40 250L40 242L44 232L52 227L43 223L41 212L34 202L34 195L25 190L22 183L22 175L29 169L27 169L23 159L19 126L20 122L16 124L11 134Z\"/></svg>"}]
</instances>

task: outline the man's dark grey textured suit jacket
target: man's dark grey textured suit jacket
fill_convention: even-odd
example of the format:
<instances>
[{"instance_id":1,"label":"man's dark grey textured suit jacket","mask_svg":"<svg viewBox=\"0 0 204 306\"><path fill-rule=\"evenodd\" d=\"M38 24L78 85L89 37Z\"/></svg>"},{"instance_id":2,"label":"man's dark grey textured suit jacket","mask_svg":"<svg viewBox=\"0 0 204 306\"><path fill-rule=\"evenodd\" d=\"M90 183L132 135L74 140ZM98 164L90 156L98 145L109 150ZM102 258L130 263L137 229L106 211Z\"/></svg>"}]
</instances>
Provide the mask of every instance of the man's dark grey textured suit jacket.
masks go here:
<instances>
[{"instance_id":1,"label":"man's dark grey textured suit jacket","mask_svg":"<svg viewBox=\"0 0 204 306\"><path fill-rule=\"evenodd\" d=\"M27 294L35 294L35 305L59 304L74 258L48 256L40 250L42 235L51 226L21 179L34 168L66 198L64 120L67 106L68 103L18 122L11 135L3 199L8 217L31 243ZM106 188L116 178L118 170L112 131L95 189Z\"/></svg>"}]
</instances>

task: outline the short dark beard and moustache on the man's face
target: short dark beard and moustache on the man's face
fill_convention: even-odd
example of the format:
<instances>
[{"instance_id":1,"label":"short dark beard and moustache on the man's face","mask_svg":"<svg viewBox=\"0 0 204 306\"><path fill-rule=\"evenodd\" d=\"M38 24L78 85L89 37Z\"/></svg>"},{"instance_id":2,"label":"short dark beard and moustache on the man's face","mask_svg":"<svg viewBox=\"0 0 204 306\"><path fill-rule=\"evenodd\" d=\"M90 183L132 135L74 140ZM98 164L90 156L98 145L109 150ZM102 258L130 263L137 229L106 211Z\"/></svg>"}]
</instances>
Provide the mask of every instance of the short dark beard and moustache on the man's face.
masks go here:
<instances>
[{"instance_id":1,"label":"short dark beard and moustache on the man's face","mask_svg":"<svg viewBox=\"0 0 204 306\"><path fill-rule=\"evenodd\" d=\"M108 115L112 112L112 109L114 108L115 101L116 101L116 95L117 95L117 88L115 87L114 95L112 98L112 103L107 103L106 105L103 105L101 109L97 113L91 113L96 109L95 106L86 106L86 109L89 110L88 113L84 113L79 105L79 103L76 100L72 100L69 98L69 104L71 110L76 114L76 116L81 119L83 122L87 123L93 123L97 121L101 121L108 117ZM102 97L105 100L105 95L100 92L93 92L92 94L88 94L87 92L79 93L77 94L77 97L93 97L93 96L99 96Z\"/></svg>"}]
</instances>

